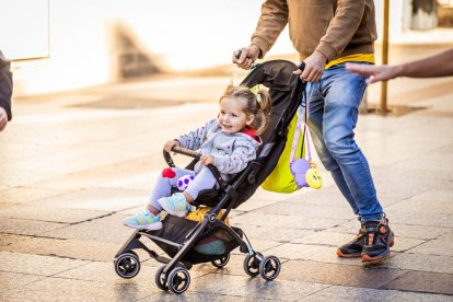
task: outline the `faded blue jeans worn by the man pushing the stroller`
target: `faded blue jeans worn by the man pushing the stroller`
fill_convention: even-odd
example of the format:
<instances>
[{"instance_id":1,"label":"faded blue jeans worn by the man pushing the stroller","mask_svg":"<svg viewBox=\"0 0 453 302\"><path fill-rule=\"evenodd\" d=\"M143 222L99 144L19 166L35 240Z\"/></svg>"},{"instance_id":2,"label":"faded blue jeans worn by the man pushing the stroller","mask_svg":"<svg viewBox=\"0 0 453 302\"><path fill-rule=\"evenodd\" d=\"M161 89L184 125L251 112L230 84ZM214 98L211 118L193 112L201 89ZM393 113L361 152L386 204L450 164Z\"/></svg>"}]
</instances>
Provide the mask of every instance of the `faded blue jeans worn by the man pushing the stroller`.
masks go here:
<instances>
[{"instance_id":1,"label":"faded blue jeans worn by the man pushing the stroller","mask_svg":"<svg viewBox=\"0 0 453 302\"><path fill-rule=\"evenodd\" d=\"M383 217L370 166L355 140L365 79L334 66L316 83L307 83L310 133L317 154L341 194L364 223Z\"/></svg>"}]
</instances>

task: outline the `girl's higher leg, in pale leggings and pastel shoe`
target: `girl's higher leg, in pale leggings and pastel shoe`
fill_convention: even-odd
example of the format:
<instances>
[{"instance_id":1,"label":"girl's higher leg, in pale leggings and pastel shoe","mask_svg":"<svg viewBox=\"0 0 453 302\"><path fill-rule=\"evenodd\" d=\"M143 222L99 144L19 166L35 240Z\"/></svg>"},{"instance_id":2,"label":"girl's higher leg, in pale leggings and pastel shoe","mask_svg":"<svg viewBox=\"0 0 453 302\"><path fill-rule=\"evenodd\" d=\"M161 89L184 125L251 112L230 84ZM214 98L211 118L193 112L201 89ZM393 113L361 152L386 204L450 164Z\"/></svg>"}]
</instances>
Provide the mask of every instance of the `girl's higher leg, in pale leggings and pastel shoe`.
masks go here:
<instances>
[{"instance_id":1,"label":"girl's higher leg, in pale leggings and pastel shoe","mask_svg":"<svg viewBox=\"0 0 453 302\"><path fill-rule=\"evenodd\" d=\"M202 166L201 171L188 184L186 190L160 198L158 201L170 214L184 217L189 209L189 204L198 197L198 194L204 189L213 188L216 182L211 171Z\"/></svg>"}]
</instances>

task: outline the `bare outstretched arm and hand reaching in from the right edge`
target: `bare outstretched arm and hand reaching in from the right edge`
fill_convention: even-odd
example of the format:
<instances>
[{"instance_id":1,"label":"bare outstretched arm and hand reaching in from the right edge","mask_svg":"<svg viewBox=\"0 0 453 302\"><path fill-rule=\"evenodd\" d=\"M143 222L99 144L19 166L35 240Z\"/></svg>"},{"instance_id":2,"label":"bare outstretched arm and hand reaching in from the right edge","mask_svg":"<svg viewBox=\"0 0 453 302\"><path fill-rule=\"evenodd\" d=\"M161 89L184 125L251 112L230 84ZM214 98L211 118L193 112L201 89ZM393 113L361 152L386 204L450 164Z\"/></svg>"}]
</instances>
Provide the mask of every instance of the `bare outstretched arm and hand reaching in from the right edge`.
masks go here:
<instances>
[{"instance_id":1,"label":"bare outstretched arm and hand reaching in from the right edge","mask_svg":"<svg viewBox=\"0 0 453 302\"><path fill-rule=\"evenodd\" d=\"M392 80L398 77L437 78L453 76L453 48L445 51L393 66L364 66L347 63L346 69L362 77L369 77L367 83Z\"/></svg>"}]
</instances>

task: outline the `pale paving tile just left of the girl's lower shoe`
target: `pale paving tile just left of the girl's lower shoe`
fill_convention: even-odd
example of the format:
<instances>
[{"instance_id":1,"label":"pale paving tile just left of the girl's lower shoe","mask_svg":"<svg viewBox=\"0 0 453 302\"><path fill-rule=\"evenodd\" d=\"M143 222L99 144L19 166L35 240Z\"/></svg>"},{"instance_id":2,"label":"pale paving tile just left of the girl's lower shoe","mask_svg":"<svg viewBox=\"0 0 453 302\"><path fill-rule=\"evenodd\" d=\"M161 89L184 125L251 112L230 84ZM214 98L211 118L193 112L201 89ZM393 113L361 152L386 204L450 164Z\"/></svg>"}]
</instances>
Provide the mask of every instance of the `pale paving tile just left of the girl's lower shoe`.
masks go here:
<instances>
[{"instance_id":1,"label":"pale paving tile just left of the girl's lower shoe","mask_svg":"<svg viewBox=\"0 0 453 302\"><path fill-rule=\"evenodd\" d=\"M49 231L44 233L44 235L58 239L124 243L132 233L132 229L124 225L123 219L124 217L119 214L105 216Z\"/></svg>"}]
</instances>

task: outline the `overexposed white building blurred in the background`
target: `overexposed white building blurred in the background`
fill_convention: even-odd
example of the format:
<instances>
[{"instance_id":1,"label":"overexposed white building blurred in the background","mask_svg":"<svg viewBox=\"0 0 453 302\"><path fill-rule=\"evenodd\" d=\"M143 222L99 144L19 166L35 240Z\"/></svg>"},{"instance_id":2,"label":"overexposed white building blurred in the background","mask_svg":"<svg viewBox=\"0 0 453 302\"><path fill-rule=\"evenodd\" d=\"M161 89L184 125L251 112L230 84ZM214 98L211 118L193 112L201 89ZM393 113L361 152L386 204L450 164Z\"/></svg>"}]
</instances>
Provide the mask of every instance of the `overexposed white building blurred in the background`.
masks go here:
<instances>
[{"instance_id":1,"label":"overexposed white building blurred in the background","mask_svg":"<svg viewBox=\"0 0 453 302\"><path fill-rule=\"evenodd\" d=\"M262 0L0 0L0 49L15 94L228 65ZM382 28L383 0L375 0ZM392 44L453 43L452 0L392 0ZM270 55L293 53L288 33Z\"/></svg>"}]
</instances>

